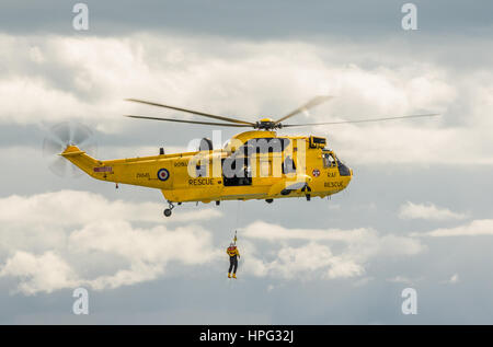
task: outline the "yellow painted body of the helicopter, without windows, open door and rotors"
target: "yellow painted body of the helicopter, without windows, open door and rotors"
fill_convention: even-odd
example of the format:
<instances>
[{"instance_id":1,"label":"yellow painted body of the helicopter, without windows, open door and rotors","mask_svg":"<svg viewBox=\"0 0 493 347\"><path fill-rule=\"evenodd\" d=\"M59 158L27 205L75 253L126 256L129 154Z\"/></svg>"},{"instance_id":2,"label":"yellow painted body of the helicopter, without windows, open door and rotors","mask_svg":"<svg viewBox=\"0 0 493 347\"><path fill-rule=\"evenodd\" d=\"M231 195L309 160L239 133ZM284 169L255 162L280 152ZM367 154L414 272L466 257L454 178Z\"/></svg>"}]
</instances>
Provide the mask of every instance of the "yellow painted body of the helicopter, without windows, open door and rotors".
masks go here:
<instances>
[{"instance_id":1,"label":"yellow painted body of the helicopter, without windows, open door and rotors","mask_svg":"<svg viewBox=\"0 0 493 347\"><path fill-rule=\"evenodd\" d=\"M251 185L225 186L223 177L220 174L220 160L228 158L239 146L254 138L283 138L289 139L290 142L284 152L252 155L254 176ZM277 137L275 131L256 130L238 134L231 138L225 149L211 151L100 161L89 157L76 146L68 146L60 155L96 180L161 189L164 198L171 203L210 203L305 197L307 192L301 192L301 186L305 184L311 188L308 193L311 197L325 197L339 193L349 184L353 171L351 170L349 175L342 176L336 164L324 167L322 152L331 153L335 158L332 151L310 148L309 137ZM291 155L297 163L296 173L283 174L280 172L277 163L282 163L286 155ZM208 165L208 175L203 177L190 175L188 163L191 160L197 162L197 157L199 158L198 162ZM306 158L305 161L302 157ZM195 166L195 163L192 163ZM217 166L215 169L217 163L219 163L219 169ZM158 178L158 172L162 169L169 173L165 181ZM163 173L161 178L165 178L165 171L161 171ZM218 172L219 174L217 174ZM319 174L317 175L317 173ZM286 187L296 189L287 195L282 195Z\"/></svg>"}]
</instances>

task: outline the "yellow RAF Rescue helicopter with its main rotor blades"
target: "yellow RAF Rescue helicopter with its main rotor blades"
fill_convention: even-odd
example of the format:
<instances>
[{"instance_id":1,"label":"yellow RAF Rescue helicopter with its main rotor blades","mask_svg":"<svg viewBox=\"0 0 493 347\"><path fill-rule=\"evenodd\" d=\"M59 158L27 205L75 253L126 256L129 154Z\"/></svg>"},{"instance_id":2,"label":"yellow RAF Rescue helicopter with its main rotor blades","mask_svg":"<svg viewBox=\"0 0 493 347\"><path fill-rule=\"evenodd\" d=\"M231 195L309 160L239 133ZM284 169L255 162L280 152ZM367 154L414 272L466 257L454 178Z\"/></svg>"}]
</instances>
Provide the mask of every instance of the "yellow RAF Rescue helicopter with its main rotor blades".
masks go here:
<instances>
[{"instance_id":1,"label":"yellow RAF Rescue helicopter with its main rotor blades","mask_svg":"<svg viewBox=\"0 0 493 347\"><path fill-rule=\"evenodd\" d=\"M428 117L435 114L316 124L284 124L293 116L306 112L331 96L321 95L273 120L263 118L248 122L231 117L174 107L144 100L127 99L140 104L185 112L218 122L127 115L139 119L176 122L216 127L253 128L233 136L225 148L214 149L209 139L202 139L192 152L168 154L161 148L158 155L96 160L68 143L60 153L90 176L117 184L130 184L160 189L169 204L164 216L170 217L174 204L222 200L326 197L347 187L353 170L347 167L326 147L326 139L318 136L279 136L276 130L300 126L342 123L379 122L398 118Z\"/></svg>"}]
</instances>

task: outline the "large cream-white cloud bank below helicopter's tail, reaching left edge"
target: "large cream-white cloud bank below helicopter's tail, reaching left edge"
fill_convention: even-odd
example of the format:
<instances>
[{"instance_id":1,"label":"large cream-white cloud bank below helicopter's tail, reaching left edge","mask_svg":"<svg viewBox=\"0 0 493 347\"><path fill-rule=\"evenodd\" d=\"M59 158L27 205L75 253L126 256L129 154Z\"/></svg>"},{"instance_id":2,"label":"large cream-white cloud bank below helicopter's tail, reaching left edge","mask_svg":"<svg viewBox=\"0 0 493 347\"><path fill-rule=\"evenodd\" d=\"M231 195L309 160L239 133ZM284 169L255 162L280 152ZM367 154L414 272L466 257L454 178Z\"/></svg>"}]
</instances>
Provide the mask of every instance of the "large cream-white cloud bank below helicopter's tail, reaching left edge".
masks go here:
<instances>
[{"instance_id":1,"label":"large cream-white cloud bank below helicopter's tail, reaching left edge","mask_svg":"<svg viewBox=\"0 0 493 347\"><path fill-rule=\"evenodd\" d=\"M0 210L0 277L15 278L25 294L129 286L165 274L171 262L200 265L218 254L210 232L193 224L221 216L216 210L164 220L158 204L76 190L1 198Z\"/></svg>"}]
</instances>

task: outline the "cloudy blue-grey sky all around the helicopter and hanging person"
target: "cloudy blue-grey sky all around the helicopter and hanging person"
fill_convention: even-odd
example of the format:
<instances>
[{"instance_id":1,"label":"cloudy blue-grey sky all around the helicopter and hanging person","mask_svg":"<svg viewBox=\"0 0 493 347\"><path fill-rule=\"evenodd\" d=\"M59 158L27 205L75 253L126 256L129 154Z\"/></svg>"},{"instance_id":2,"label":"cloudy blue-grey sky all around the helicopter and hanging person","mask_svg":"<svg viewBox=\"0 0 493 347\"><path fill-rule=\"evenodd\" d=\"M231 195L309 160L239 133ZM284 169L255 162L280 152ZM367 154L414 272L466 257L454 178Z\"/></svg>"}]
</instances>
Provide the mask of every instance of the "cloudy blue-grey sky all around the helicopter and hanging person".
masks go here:
<instances>
[{"instance_id":1,"label":"cloudy blue-grey sky all around the helicopter and hanging person","mask_svg":"<svg viewBox=\"0 0 493 347\"><path fill-rule=\"evenodd\" d=\"M76 3L0 4L0 323L493 323L491 1L414 1L410 31L393 0L85 1L87 31ZM293 123L440 116L282 130L326 137L348 188L171 218L159 190L60 177L43 154L62 122L92 129L99 159L217 130L124 118L195 119L127 97L254 122L320 94L334 99Z\"/></svg>"}]
</instances>

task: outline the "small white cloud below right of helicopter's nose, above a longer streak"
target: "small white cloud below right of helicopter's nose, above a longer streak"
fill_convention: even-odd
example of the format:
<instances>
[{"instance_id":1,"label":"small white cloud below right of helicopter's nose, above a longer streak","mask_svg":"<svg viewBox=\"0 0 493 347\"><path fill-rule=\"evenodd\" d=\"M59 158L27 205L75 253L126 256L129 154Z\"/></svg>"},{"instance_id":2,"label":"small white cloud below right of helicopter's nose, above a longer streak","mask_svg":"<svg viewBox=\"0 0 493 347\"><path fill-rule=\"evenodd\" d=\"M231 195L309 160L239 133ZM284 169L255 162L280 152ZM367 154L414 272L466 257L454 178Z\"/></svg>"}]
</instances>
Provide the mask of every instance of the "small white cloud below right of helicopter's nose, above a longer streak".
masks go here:
<instances>
[{"instance_id":1,"label":"small white cloud below right of helicopter's nose, above a longer streak","mask_svg":"<svg viewBox=\"0 0 493 347\"><path fill-rule=\"evenodd\" d=\"M425 219L425 220L463 220L468 218L466 213L454 212L447 208L440 208L432 203L414 204L406 201L399 209L401 219Z\"/></svg>"}]
</instances>

